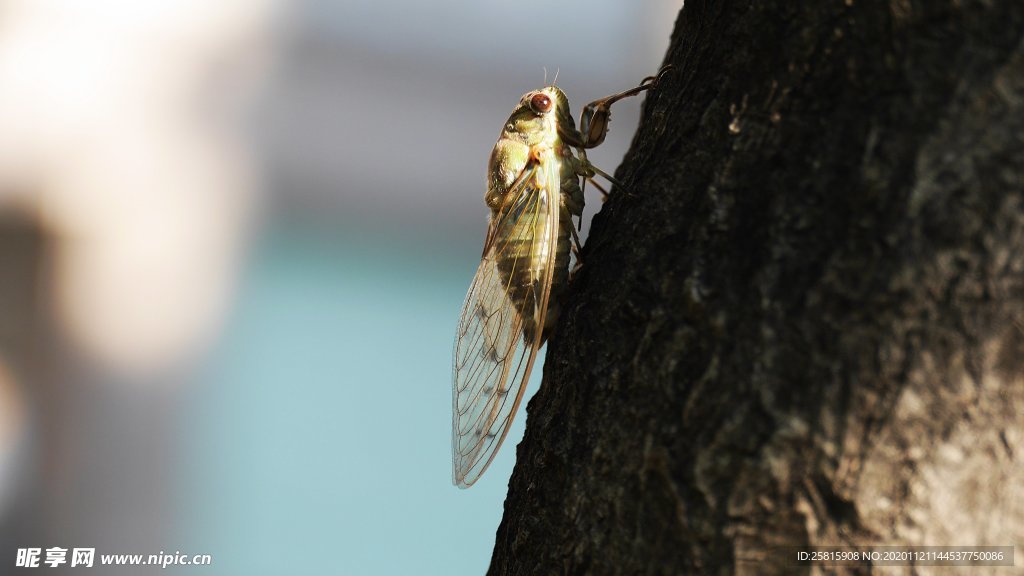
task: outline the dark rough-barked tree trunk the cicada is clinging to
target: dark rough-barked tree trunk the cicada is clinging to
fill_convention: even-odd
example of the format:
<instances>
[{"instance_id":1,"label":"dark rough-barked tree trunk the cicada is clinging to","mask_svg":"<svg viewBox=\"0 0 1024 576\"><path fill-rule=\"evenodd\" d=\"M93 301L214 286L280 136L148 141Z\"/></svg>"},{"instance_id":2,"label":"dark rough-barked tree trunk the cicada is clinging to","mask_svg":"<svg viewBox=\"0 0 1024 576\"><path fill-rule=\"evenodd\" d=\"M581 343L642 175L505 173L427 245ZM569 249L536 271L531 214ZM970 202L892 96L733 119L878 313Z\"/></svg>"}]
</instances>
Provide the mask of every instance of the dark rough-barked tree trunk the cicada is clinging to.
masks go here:
<instances>
[{"instance_id":1,"label":"dark rough-barked tree trunk the cicada is clinging to","mask_svg":"<svg viewBox=\"0 0 1024 576\"><path fill-rule=\"evenodd\" d=\"M1020 0L686 2L492 574L1024 542L1022 39Z\"/></svg>"}]
</instances>

